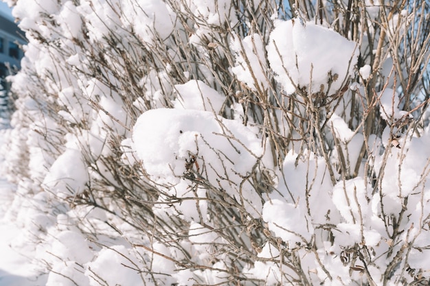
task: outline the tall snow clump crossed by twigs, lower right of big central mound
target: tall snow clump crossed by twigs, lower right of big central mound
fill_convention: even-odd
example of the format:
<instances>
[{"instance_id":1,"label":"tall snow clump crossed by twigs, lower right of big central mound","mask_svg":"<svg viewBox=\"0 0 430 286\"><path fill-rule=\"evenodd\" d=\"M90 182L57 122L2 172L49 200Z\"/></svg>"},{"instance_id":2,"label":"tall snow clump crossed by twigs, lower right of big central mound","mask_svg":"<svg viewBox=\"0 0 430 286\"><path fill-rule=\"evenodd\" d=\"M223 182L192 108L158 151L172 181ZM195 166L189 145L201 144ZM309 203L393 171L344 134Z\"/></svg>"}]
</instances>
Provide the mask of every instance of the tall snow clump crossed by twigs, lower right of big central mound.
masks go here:
<instances>
[{"instance_id":1,"label":"tall snow clump crossed by twigs, lower right of big central mound","mask_svg":"<svg viewBox=\"0 0 430 286\"><path fill-rule=\"evenodd\" d=\"M313 152L288 152L278 174L280 184L264 204L262 218L269 230L294 248L307 243L315 225L338 222L339 212L331 200L332 182L324 158ZM324 206L324 207L321 207Z\"/></svg>"}]
</instances>

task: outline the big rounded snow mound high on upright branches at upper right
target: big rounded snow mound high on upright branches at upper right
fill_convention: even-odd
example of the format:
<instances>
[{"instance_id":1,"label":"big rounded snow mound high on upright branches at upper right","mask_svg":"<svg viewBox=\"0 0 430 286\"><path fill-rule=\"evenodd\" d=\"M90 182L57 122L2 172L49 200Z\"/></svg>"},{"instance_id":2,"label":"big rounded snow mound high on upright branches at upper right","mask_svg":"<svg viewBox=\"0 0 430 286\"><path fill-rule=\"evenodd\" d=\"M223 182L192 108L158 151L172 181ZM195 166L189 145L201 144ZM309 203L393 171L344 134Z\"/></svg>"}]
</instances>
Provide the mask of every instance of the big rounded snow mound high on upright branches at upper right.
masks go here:
<instances>
[{"instance_id":1,"label":"big rounded snow mound high on upright branches at upper right","mask_svg":"<svg viewBox=\"0 0 430 286\"><path fill-rule=\"evenodd\" d=\"M267 58L286 93L308 88L310 93L338 91L352 74L359 56L357 43L314 23L276 21ZM331 78L331 79L330 79ZM332 80L332 83L328 82Z\"/></svg>"}]
</instances>

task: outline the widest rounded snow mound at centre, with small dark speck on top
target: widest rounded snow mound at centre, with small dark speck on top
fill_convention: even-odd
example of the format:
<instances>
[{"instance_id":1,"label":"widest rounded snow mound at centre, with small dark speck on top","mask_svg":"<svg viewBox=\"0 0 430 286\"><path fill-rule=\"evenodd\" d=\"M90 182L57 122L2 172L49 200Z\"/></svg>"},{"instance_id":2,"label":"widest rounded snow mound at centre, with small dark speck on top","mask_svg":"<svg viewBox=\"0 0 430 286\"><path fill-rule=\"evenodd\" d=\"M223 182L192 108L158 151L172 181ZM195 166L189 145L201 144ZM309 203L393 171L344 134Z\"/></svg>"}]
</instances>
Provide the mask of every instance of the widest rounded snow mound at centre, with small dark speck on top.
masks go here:
<instances>
[{"instance_id":1,"label":"widest rounded snow mound at centre, with small dark speck on top","mask_svg":"<svg viewBox=\"0 0 430 286\"><path fill-rule=\"evenodd\" d=\"M210 178L230 171L245 175L262 154L249 128L201 110L148 110L137 119L133 141L148 174L160 179L182 176L191 156L212 165Z\"/></svg>"}]
</instances>

